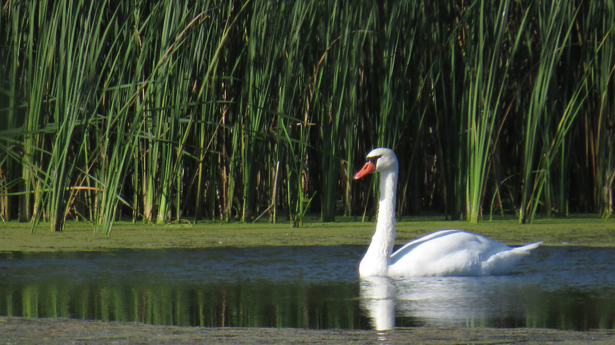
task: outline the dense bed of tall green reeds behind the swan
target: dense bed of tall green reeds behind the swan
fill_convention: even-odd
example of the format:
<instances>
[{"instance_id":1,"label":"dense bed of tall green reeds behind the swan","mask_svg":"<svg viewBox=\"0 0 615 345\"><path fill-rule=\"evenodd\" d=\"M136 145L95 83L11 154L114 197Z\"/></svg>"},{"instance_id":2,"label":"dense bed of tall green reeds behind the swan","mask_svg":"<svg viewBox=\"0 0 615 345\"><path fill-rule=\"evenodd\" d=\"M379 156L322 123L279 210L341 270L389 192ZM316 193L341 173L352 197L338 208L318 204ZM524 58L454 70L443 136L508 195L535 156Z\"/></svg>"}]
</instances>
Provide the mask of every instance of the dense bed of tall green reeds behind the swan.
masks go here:
<instances>
[{"instance_id":1,"label":"dense bed of tall green reeds behind the swan","mask_svg":"<svg viewBox=\"0 0 615 345\"><path fill-rule=\"evenodd\" d=\"M8 1L0 215L303 221L614 211L615 6L591 1Z\"/></svg>"}]
</instances>

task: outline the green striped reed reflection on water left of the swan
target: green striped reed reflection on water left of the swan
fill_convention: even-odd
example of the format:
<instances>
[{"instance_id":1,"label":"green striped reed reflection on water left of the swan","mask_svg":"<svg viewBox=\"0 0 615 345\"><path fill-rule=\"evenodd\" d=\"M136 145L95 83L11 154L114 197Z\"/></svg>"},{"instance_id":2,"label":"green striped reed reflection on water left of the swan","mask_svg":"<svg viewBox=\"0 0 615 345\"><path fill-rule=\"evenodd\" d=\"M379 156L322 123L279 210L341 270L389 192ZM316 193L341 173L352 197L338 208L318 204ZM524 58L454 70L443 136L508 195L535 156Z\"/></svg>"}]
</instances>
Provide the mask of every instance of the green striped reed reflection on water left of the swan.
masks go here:
<instances>
[{"instance_id":1,"label":"green striped reed reflection on water left of the swan","mask_svg":"<svg viewBox=\"0 0 615 345\"><path fill-rule=\"evenodd\" d=\"M356 284L72 285L0 289L0 314L206 327L367 327ZM363 322L363 325L362 325Z\"/></svg>"}]
</instances>

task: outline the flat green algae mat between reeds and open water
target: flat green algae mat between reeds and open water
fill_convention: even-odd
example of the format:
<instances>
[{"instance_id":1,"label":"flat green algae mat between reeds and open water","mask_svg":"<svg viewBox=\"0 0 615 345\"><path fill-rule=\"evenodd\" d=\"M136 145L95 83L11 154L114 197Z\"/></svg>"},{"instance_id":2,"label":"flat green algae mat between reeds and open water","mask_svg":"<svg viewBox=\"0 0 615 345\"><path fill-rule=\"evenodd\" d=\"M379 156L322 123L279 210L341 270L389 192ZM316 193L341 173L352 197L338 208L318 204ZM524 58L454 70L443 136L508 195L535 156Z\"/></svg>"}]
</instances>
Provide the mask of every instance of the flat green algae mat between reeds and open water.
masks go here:
<instances>
[{"instance_id":1,"label":"flat green algae mat between reeds and open water","mask_svg":"<svg viewBox=\"0 0 615 345\"><path fill-rule=\"evenodd\" d=\"M441 218L440 218L441 219ZM445 228L481 233L519 246L544 241L543 246L615 246L615 219L600 220L591 215L565 219L537 219L519 225L515 219L468 223L439 220L437 217L404 217L397 223L396 245ZM116 222L113 235L92 231L87 222L67 222L65 231L38 231L31 235L30 224L0 223L0 251L62 251L168 249L246 246L341 246L367 247L374 231L373 222L354 217L338 217L336 222L319 222L317 216L303 227L290 223L271 224L203 221L196 224L148 225Z\"/></svg>"}]
</instances>

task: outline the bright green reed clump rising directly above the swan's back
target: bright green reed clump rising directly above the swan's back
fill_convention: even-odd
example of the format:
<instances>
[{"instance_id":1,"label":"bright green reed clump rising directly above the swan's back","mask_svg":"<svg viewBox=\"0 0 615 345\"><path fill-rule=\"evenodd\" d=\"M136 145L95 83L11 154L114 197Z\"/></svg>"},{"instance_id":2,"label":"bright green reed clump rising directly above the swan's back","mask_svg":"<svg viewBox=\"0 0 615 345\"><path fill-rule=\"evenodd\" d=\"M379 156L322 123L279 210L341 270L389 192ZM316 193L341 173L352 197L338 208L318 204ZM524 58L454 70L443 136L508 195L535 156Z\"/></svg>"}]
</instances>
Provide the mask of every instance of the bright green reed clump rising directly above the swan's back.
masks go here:
<instances>
[{"instance_id":1,"label":"bright green reed clump rising directly above the swan's back","mask_svg":"<svg viewBox=\"0 0 615 345\"><path fill-rule=\"evenodd\" d=\"M478 222L482 215L488 169L491 165L493 145L498 141L497 127L506 121L504 93L510 90L507 74L517 53L521 33L524 31L528 11L523 13L520 24L508 26L510 1L502 1L495 13L489 16L486 7L490 2L481 1L477 8L469 9L466 18L477 18L469 26L468 37L477 41L466 42L466 54L472 64L466 69L467 87L467 177L466 217ZM476 13L478 12L478 13ZM510 29L514 29L510 30Z\"/></svg>"}]
</instances>

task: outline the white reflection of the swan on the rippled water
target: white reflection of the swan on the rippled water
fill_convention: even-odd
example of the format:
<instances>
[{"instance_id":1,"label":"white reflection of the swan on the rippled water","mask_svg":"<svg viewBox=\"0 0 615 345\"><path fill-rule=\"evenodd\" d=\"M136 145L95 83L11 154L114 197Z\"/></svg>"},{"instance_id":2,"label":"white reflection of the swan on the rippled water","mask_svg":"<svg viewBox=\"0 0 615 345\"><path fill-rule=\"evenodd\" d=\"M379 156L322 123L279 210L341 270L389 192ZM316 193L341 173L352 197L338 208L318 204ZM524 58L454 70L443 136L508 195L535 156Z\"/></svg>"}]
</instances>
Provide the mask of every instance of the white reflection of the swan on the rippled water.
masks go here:
<instances>
[{"instance_id":1,"label":"white reflection of the swan on the rippled water","mask_svg":"<svg viewBox=\"0 0 615 345\"><path fill-rule=\"evenodd\" d=\"M466 326L489 318L523 319L536 287L528 279L483 277L361 277L360 304L377 331L395 315L416 325Z\"/></svg>"}]
</instances>

